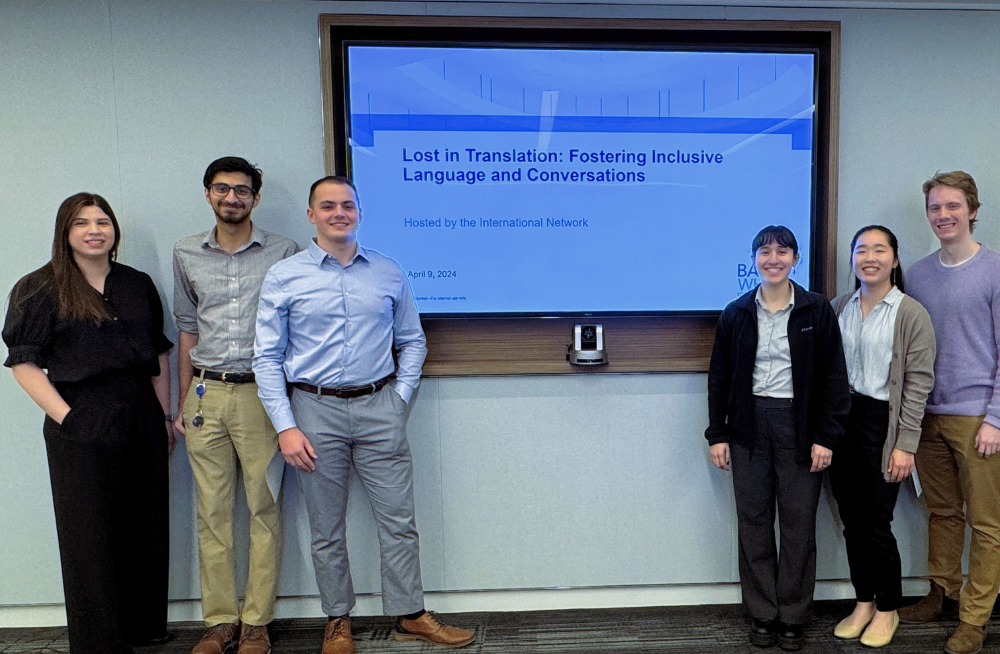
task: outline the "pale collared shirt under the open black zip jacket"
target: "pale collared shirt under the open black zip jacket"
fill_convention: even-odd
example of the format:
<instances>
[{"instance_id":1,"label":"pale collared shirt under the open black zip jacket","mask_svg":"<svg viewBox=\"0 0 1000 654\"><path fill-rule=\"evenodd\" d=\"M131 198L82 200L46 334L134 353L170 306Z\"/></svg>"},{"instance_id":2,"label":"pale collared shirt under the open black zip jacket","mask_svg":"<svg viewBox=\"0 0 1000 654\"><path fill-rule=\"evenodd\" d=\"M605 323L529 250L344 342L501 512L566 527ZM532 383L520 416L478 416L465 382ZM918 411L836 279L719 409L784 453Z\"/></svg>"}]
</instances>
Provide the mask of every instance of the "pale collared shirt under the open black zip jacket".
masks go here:
<instances>
[{"instance_id":1,"label":"pale collared shirt under the open black zip jacket","mask_svg":"<svg viewBox=\"0 0 1000 654\"><path fill-rule=\"evenodd\" d=\"M757 289L757 359L753 364L753 394L764 397L791 398L792 352L788 347L788 317L795 307L795 290L781 309L774 313Z\"/></svg>"}]
</instances>

